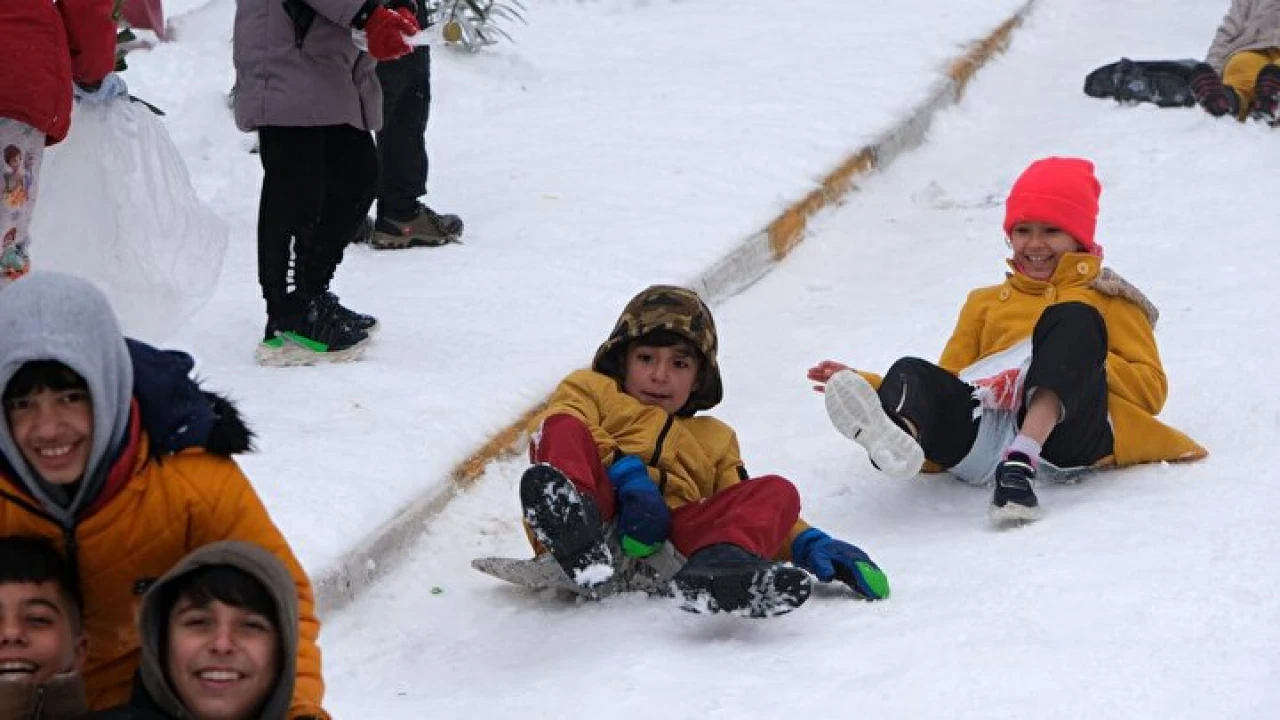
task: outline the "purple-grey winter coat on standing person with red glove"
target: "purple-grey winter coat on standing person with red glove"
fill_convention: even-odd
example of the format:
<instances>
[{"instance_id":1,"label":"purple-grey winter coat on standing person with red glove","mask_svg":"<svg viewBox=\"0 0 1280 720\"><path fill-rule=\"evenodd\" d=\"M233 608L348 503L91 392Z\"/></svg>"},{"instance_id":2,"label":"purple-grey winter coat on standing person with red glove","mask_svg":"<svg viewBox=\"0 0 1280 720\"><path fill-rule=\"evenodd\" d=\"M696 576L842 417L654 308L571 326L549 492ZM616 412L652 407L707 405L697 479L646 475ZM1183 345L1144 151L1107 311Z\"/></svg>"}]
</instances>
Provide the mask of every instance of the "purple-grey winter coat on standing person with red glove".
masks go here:
<instances>
[{"instance_id":1,"label":"purple-grey winter coat on standing person with red glove","mask_svg":"<svg viewBox=\"0 0 1280 720\"><path fill-rule=\"evenodd\" d=\"M356 47L351 23L365 0L236 0L236 124L348 124L378 131L376 63Z\"/></svg>"}]
</instances>

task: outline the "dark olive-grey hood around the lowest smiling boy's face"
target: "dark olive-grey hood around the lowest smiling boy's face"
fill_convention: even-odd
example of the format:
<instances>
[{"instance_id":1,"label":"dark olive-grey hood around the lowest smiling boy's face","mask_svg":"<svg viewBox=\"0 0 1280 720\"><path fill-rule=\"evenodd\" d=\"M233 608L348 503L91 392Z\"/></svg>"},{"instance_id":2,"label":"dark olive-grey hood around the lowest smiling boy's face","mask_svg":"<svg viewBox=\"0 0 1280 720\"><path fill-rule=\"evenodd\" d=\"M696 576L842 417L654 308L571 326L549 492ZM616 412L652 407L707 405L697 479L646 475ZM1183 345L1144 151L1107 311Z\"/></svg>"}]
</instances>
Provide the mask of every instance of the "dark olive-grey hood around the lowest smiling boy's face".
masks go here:
<instances>
[{"instance_id":1,"label":"dark olive-grey hood around the lowest smiling boy's face","mask_svg":"<svg viewBox=\"0 0 1280 720\"><path fill-rule=\"evenodd\" d=\"M186 717L187 712L164 674L164 648L161 638L169 621L170 607L164 606L164 589L183 575L210 565L229 565L252 575L262 583L275 601L275 626L280 635L280 675L271 694L262 705L261 720L284 720L293 697L298 655L298 598L297 585L288 569L266 550L247 542L223 541L206 544L183 557L173 570L156 582L142 598L138 633L142 641L142 660L138 675L152 702L173 717Z\"/></svg>"}]
</instances>

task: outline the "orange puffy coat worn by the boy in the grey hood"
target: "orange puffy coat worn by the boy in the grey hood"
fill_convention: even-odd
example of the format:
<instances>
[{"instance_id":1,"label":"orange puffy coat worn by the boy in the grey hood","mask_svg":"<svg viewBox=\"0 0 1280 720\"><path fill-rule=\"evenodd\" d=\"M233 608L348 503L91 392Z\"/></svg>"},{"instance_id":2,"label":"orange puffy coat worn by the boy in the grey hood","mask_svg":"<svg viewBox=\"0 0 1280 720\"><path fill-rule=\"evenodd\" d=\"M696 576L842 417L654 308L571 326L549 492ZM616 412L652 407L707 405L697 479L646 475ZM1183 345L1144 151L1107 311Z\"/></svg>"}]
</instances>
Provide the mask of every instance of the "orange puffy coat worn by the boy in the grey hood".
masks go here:
<instances>
[{"instance_id":1,"label":"orange puffy coat worn by the boy in the grey hood","mask_svg":"<svg viewBox=\"0 0 1280 720\"><path fill-rule=\"evenodd\" d=\"M320 706L320 624L311 583L248 478L230 457L204 450L151 457L137 413L131 436L97 510L78 521L74 537L64 537L56 523L36 511L14 479L0 475L0 534L35 534L60 542L78 569L90 638L84 682L91 708L129 698L141 659L137 612L143 591L192 550L239 539L273 552L297 583L301 626L289 716L328 717ZM74 546L67 547L68 541Z\"/></svg>"}]
</instances>

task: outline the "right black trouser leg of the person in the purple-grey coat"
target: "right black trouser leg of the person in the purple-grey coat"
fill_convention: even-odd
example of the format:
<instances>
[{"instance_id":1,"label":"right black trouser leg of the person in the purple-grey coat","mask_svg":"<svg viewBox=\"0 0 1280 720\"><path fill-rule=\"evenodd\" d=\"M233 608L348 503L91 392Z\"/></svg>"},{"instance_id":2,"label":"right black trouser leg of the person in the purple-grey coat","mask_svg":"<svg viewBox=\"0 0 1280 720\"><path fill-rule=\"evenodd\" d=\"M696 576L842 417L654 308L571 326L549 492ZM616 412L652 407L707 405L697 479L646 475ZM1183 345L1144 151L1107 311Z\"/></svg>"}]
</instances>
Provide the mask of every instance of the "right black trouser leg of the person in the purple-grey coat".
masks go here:
<instances>
[{"instance_id":1,"label":"right black trouser leg of the person in the purple-grey coat","mask_svg":"<svg viewBox=\"0 0 1280 720\"><path fill-rule=\"evenodd\" d=\"M378 151L371 133L330 126L324 135L324 204L315 231L298 251L300 288L308 296L329 290L342 254L374 204Z\"/></svg>"}]
</instances>

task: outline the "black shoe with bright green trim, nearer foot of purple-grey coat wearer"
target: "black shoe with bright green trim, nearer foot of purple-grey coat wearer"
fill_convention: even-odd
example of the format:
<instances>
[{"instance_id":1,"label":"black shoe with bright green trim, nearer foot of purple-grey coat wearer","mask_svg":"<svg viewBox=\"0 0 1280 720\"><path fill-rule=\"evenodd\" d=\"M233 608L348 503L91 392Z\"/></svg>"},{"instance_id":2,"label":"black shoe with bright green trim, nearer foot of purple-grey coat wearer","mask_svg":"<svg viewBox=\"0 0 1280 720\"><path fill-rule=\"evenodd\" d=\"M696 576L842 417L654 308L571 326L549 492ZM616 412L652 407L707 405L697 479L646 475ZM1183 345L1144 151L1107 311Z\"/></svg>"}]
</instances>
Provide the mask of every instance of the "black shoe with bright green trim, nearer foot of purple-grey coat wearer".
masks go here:
<instances>
[{"instance_id":1,"label":"black shoe with bright green trim, nearer foot of purple-grey coat wearer","mask_svg":"<svg viewBox=\"0 0 1280 720\"><path fill-rule=\"evenodd\" d=\"M256 359L259 365L271 368L347 363L364 355L367 345L369 333L312 299L300 313L268 318Z\"/></svg>"}]
</instances>

